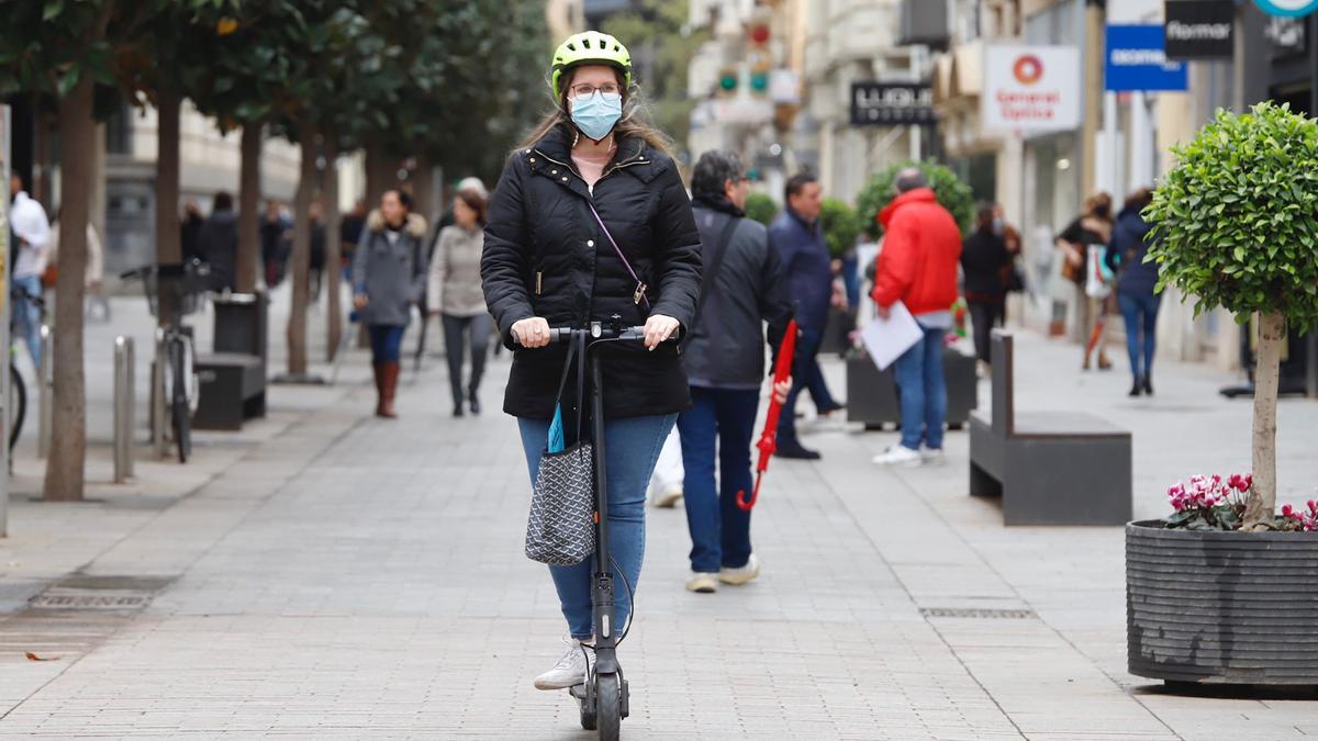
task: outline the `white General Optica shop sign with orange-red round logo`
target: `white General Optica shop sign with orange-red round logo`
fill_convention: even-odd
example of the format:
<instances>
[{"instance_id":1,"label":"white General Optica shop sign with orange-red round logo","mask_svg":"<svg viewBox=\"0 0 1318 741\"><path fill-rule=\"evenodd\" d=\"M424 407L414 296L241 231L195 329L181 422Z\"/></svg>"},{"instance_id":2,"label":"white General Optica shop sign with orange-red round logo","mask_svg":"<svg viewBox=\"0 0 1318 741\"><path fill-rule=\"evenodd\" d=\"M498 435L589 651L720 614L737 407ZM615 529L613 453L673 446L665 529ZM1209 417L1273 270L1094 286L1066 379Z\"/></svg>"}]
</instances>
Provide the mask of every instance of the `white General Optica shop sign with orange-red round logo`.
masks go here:
<instances>
[{"instance_id":1,"label":"white General Optica shop sign with orange-red round logo","mask_svg":"<svg viewBox=\"0 0 1318 741\"><path fill-rule=\"evenodd\" d=\"M987 46L979 116L988 131L1049 132L1079 125L1079 50Z\"/></svg>"}]
</instances>

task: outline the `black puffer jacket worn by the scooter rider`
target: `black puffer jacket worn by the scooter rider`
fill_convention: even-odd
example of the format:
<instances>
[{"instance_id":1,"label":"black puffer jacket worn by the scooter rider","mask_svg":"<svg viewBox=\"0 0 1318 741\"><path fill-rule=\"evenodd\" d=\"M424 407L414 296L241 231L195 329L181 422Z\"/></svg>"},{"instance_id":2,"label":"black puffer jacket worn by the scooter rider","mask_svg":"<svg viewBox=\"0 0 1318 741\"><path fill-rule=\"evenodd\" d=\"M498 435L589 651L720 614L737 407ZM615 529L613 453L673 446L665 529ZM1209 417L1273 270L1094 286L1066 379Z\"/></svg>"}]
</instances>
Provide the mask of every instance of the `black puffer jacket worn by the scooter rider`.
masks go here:
<instances>
[{"instance_id":1,"label":"black puffer jacket worn by the scooter rider","mask_svg":"<svg viewBox=\"0 0 1318 741\"><path fill-rule=\"evenodd\" d=\"M645 324L650 314L692 323L700 291L700 235L672 160L639 140L621 140L592 195L571 163L571 133L555 129L509 158L489 207L481 282L503 341L515 352L503 411L529 419L554 413L567 348L521 349L511 327L543 316L551 327L584 327L613 315ZM587 200L646 283L650 307L600 229ZM671 414L691 406L676 348L609 345L605 415ZM568 384L571 386L571 384ZM565 403L575 403L571 389Z\"/></svg>"}]
</instances>

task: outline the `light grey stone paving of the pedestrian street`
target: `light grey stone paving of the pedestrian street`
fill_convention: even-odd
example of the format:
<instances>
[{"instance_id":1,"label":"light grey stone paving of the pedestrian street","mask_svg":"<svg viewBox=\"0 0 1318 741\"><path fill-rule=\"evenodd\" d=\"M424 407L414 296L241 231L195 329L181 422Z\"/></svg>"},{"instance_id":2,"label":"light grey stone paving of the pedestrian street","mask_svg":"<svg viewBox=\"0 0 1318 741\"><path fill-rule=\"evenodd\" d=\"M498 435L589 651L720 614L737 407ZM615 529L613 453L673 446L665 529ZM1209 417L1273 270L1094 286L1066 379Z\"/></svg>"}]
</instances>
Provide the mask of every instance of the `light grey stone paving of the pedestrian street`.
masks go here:
<instances>
[{"instance_id":1,"label":"light grey stone paving of the pedestrian street","mask_svg":"<svg viewBox=\"0 0 1318 741\"><path fill-rule=\"evenodd\" d=\"M1023 338L1017 403L1131 426L1137 516L1161 513L1169 479L1247 460L1248 405L1215 398L1219 374L1168 364L1156 401L1136 403L1115 374L1072 373L1073 349ZM190 479L150 463L99 504L14 498L0 737L593 736L565 694L530 684L563 626L543 567L522 556L526 469L494 411L506 356L490 411L460 421L439 360L405 376L397 422L365 417L353 363L351 384L274 389L269 421L204 438ZM841 367L828 370L841 388ZM1282 405L1296 490L1318 463L1286 435L1315 422L1318 405ZM687 593L683 512L650 510L621 651L626 737L1318 736L1314 699L1174 696L1127 675L1120 529L1002 527L965 494L963 434L946 465L894 472L869 461L891 432L804 427L825 458L774 463L753 531L759 580ZM169 583L144 609L28 607L71 572ZM938 608L1025 617L921 612Z\"/></svg>"}]
</instances>

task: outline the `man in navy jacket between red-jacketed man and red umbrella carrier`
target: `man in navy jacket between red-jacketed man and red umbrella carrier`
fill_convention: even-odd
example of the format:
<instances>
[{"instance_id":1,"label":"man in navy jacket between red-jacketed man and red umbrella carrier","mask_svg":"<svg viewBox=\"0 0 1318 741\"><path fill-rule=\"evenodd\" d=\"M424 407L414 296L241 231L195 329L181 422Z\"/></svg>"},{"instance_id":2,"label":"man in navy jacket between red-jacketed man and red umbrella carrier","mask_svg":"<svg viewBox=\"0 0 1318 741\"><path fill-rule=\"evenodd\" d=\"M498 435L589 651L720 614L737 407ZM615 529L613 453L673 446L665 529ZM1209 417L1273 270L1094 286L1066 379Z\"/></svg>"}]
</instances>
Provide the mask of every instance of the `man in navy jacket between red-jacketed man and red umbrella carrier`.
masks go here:
<instances>
[{"instance_id":1,"label":"man in navy jacket between red-jacketed man and red umbrella carrier","mask_svg":"<svg viewBox=\"0 0 1318 741\"><path fill-rule=\"evenodd\" d=\"M818 181L809 174L792 175L787 181L784 195L787 207L768 227L768 243L778 252L787 273L787 286L796 303L796 323L801 335L797 338L792 363L793 386L778 421L775 455L817 460L820 454L807 450L796 434L796 400L803 389L809 389L821 415L842 409L829 393L818 364L820 343L824 340L833 301L833 261L818 222L822 203Z\"/></svg>"}]
</instances>

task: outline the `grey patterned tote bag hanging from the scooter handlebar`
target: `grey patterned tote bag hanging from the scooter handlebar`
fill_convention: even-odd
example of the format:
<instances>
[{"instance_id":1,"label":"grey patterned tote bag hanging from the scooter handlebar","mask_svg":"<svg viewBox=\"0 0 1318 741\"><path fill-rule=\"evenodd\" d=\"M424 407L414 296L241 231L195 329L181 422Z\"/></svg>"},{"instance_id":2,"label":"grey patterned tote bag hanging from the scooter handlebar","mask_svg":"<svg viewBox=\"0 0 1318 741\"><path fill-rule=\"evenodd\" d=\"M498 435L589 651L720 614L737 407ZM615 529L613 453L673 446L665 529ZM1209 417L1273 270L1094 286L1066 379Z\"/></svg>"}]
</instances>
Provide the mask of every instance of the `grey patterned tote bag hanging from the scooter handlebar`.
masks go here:
<instances>
[{"instance_id":1,"label":"grey patterned tote bag hanging from the scooter handlebar","mask_svg":"<svg viewBox=\"0 0 1318 741\"><path fill-rule=\"evenodd\" d=\"M563 389L573 359L577 361L576 439L564 446ZM594 552L594 451L589 440L581 439L584 403L585 338L572 338L526 519L526 558L550 566L576 566Z\"/></svg>"}]
</instances>

